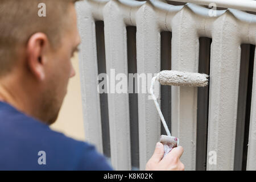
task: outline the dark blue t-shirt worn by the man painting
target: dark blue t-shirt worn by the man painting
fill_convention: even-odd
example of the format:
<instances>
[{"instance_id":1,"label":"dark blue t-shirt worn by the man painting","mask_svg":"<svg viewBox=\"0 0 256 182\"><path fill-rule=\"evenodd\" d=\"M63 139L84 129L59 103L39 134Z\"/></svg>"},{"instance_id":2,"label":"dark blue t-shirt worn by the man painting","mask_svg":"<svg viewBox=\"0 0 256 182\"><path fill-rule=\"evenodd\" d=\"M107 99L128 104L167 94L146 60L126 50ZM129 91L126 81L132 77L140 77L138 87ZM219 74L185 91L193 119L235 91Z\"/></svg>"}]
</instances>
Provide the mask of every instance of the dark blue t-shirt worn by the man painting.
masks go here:
<instances>
[{"instance_id":1,"label":"dark blue t-shirt worn by the man painting","mask_svg":"<svg viewBox=\"0 0 256 182\"><path fill-rule=\"evenodd\" d=\"M72 123L71 123L72 125ZM91 144L0 102L0 170L112 170Z\"/></svg>"}]
</instances>

